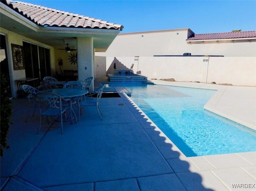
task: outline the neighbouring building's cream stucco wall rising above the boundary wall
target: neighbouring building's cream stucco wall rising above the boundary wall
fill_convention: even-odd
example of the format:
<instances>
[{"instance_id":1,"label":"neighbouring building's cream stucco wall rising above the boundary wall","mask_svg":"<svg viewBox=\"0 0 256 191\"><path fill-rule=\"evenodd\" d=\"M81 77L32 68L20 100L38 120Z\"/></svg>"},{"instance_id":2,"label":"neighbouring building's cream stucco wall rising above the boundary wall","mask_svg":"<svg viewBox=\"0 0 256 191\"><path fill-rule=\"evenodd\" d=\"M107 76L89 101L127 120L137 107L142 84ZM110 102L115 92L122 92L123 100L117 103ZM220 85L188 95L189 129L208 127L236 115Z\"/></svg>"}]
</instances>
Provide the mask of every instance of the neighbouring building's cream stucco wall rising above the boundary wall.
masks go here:
<instances>
[{"instance_id":1,"label":"neighbouring building's cream stucco wall rising above the boundary wall","mask_svg":"<svg viewBox=\"0 0 256 191\"><path fill-rule=\"evenodd\" d=\"M152 32L121 33L105 53L98 56L153 56L153 55L224 55L225 57L255 57L256 39L248 41L205 40L186 41L189 29L161 30Z\"/></svg>"}]
</instances>

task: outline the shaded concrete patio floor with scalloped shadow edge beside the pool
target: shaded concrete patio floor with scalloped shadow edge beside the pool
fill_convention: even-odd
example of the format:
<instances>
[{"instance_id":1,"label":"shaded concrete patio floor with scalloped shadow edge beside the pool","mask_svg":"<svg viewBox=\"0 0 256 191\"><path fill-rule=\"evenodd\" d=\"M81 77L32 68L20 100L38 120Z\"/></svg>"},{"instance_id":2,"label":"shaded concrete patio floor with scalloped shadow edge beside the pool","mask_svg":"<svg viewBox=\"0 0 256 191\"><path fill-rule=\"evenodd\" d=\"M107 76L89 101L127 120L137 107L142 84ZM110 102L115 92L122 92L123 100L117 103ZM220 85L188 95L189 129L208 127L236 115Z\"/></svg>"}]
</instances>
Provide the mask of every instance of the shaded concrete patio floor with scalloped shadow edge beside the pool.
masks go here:
<instances>
[{"instance_id":1,"label":"shaded concrete patio floor with scalloped shadow edge beside the pool","mask_svg":"<svg viewBox=\"0 0 256 191\"><path fill-rule=\"evenodd\" d=\"M211 190L128 96L101 98L103 120L84 108L77 124L37 134L39 111L28 122L28 101L13 101L9 150L1 158L1 190ZM47 120L46 120L47 121Z\"/></svg>"}]
</instances>

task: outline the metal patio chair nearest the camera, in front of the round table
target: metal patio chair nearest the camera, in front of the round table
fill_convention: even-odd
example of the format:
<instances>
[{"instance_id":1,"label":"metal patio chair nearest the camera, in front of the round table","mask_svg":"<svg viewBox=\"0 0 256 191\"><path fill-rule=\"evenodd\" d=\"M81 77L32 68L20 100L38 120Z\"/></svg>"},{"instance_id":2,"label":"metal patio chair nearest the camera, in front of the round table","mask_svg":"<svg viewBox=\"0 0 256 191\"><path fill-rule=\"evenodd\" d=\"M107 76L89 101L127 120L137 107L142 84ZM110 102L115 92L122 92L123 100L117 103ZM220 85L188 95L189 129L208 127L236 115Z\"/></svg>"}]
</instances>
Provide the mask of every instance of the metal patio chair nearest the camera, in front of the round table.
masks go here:
<instances>
[{"instance_id":1,"label":"metal patio chair nearest the camera, in front of the round table","mask_svg":"<svg viewBox=\"0 0 256 191\"><path fill-rule=\"evenodd\" d=\"M72 103L70 99L65 99L60 95L54 94L54 93L43 93L39 92L35 94L36 101L38 102L38 106L40 109L40 124L38 128L38 134L40 133L41 126L42 126L42 116L57 116L52 123L50 124L50 127L55 122L55 120L60 116L60 124L61 124L61 132L63 134L63 123L62 123L62 114L70 108L70 117L71 117L71 123L72 122L72 112L74 114L74 111L72 110ZM62 105L62 102L69 103L68 105Z\"/></svg>"}]
</instances>

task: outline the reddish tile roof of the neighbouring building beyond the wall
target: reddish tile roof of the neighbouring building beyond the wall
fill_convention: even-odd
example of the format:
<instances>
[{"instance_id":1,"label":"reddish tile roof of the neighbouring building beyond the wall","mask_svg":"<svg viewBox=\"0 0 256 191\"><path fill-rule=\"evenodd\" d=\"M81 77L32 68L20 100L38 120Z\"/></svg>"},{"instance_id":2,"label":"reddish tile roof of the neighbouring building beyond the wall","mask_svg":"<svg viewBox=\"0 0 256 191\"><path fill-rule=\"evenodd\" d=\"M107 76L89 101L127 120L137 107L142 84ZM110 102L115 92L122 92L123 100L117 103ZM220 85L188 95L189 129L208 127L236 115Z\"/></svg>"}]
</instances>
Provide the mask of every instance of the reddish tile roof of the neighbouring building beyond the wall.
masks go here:
<instances>
[{"instance_id":1,"label":"reddish tile roof of the neighbouring building beyond the wall","mask_svg":"<svg viewBox=\"0 0 256 191\"><path fill-rule=\"evenodd\" d=\"M255 38L256 31L240 31L226 33L193 34L186 40L211 40L211 39L238 39Z\"/></svg>"}]
</instances>

